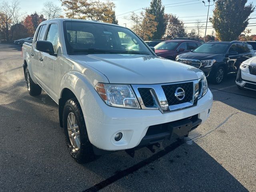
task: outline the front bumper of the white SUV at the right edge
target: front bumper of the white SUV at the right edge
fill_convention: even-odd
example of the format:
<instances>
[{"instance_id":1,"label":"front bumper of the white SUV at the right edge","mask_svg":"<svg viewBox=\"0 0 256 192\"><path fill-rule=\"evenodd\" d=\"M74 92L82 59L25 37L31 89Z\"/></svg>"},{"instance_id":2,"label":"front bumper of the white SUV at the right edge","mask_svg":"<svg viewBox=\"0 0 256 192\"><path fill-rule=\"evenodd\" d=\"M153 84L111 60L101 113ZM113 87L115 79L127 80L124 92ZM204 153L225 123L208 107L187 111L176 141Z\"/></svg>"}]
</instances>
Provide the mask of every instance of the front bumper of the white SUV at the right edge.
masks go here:
<instances>
[{"instance_id":1,"label":"front bumper of the white SUV at the right edge","mask_svg":"<svg viewBox=\"0 0 256 192\"><path fill-rule=\"evenodd\" d=\"M256 90L256 75L250 74L248 67L240 66L236 77L236 84L242 88Z\"/></svg>"}]
</instances>

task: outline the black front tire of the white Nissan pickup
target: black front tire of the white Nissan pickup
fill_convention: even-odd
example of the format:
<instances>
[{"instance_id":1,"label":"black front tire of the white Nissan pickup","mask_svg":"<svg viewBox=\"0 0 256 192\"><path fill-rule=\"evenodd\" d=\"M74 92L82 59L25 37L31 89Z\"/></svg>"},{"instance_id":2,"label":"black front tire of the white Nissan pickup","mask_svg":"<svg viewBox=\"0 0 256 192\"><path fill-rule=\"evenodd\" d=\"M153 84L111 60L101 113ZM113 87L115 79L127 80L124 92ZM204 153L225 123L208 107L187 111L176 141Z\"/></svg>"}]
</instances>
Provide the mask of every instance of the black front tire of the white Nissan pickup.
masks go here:
<instances>
[{"instance_id":1,"label":"black front tire of the white Nissan pickup","mask_svg":"<svg viewBox=\"0 0 256 192\"><path fill-rule=\"evenodd\" d=\"M78 125L77 130L79 131L79 138L80 138L79 148L78 148L78 145L75 144L74 140L73 140L74 144L72 144L71 142L72 139L70 139L71 134L69 134L68 132L68 116L70 113L73 113L73 115L76 118L76 124L74 124L74 126ZM64 105L63 128L65 132L65 137L66 137L66 144L68 146L70 155L78 163L88 163L96 159L96 156L92 149L92 144L90 143L90 140L88 138L86 124L84 122L84 116L83 116L80 104L78 103L78 100L76 98L72 98L68 100ZM74 130L75 129L73 129L73 132Z\"/></svg>"}]
</instances>

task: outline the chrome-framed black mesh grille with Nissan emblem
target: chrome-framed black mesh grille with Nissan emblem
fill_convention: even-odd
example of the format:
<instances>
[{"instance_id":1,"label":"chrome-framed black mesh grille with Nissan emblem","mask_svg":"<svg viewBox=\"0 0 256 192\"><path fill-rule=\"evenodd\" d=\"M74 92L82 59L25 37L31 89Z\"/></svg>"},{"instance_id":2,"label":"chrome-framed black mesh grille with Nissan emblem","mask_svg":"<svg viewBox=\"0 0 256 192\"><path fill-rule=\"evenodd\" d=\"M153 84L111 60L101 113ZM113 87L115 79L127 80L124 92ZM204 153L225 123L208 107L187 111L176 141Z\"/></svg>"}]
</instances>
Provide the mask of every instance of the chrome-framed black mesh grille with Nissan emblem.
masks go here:
<instances>
[{"instance_id":1,"label":"chrome-framed black mesh grille with Nissan emblem","mask_svg":"<svg viewBox=\"0 0 256 192\"><path fill-rule=\"evenodd\" d=\"M142 109L167 113L196 105L202 96L202 79L169 84L133 84L132 88Z\"/></svg>"}]
</instances>

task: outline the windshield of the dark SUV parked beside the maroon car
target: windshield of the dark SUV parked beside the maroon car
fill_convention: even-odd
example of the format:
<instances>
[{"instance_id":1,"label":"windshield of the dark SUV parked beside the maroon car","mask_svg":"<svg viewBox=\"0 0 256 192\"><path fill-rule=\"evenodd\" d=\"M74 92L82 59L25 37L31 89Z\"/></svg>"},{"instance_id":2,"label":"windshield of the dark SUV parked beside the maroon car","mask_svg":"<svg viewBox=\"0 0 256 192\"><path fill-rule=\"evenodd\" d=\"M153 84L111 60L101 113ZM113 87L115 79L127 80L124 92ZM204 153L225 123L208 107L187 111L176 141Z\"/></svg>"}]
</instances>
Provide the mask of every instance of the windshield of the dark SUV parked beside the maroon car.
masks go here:
<instances>
[{"instance_id":1,"label":"windshield of the dark SUV parked beside the maroon car","mask_svg":"<svg viewBox=\"0 0 256 192\"><path fill-rule=\"evenodd\" d=\"M229 44L205 43L194 49L195 53L224 53Z\"/></svg>"}]
</instances>

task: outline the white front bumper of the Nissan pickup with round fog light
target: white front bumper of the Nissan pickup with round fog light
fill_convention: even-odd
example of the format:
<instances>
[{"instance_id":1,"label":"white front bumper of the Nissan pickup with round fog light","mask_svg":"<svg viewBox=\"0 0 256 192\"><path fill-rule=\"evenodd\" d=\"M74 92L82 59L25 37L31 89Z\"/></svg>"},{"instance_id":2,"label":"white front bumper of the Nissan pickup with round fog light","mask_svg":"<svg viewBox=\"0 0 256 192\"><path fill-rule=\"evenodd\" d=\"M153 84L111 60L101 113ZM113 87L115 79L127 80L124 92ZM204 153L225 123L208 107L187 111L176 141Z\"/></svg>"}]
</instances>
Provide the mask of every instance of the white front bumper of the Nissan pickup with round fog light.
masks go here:
<instances>
[{"instance_id":1,"label":"white front bumper of the Nissan pickup with round fog light","mask_svg":"<svg viewBox=\"0 0 256 192\"><path fill-rule=\"evenodd\" d=\"M102 150L125 150L138 146L150 126L195 115L204 122L212 107L212 93L208 90L196 106L165 114L159 110L110 107L96 92L87 92L80 103L90 142ZM93 110L90 110L92 106ZM118 132L123 135L120 141L114 140Z\"/></svg>"}]
</instances>

